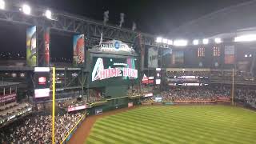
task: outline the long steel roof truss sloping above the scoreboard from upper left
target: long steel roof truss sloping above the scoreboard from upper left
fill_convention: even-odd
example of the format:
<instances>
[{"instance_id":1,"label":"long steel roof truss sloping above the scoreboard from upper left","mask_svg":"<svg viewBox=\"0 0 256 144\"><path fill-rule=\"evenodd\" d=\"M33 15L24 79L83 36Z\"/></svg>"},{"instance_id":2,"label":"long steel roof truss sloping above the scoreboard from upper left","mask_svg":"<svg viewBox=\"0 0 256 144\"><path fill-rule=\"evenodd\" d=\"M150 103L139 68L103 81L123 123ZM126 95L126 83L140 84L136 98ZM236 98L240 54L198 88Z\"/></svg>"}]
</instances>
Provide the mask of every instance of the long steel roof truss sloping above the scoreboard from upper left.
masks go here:
<instances>
[{"instance_id":1,"label":"long steel roof truss sloping above the scoreboard from upper left","mask_svg":"<svg viewBox=\"0 0 256 144\"><path fill-rule=\"evenodd\" d=\"M104 25L103 22L96 22L90 18L67 14L58 10L52 11L54 16L56 16L56 19L50 20L42 16L46 10L46 8L42 6L32 6L33 14L26 15L18 10L19 0L10 0L8 3L13 6L13 10L0 10L0 21L14 22L28 26L50 27L50 29L58 30L60 32L85 34L87 38L87 47L98 44L101 38L101 33L106 40L117 39L130 44L134 43L138 34L142 34L142 38L145 39L145 45L157 46L157 43L155 42L156 37L151 34L140 33L138 31L128 30L113 25Z\"/></svg>"}]
</instances>

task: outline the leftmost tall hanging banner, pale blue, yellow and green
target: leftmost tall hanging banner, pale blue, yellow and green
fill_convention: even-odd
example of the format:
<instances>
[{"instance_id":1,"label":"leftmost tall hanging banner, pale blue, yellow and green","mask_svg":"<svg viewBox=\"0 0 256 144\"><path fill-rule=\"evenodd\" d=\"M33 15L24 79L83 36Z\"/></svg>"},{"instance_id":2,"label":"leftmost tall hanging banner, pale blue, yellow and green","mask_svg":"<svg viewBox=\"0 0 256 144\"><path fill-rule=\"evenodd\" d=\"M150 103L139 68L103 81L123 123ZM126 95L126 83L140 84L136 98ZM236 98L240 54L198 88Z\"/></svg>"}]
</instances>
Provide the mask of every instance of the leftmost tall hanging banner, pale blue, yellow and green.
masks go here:
<instances>
[{"instance_id":1,"label":"leftmost tall hanging banner, pale blue, yellow and green","mask_svg":"<svg viewBox=\"0 0 256 144\"><path fill-rule=\"evenodd\" d=\"M26 64L37 66L37 28L31 26L26 29Z\"/></svg>"}]
</instances>

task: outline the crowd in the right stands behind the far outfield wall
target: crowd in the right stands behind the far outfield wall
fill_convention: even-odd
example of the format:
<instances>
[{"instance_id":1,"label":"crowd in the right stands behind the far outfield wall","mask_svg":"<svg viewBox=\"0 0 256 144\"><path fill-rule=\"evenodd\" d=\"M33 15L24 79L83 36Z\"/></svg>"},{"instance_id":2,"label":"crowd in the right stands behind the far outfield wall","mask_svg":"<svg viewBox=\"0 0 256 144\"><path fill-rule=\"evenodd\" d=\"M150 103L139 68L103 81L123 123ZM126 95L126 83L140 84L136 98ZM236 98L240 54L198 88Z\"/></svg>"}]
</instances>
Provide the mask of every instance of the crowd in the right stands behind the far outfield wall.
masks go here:
<instances>
[{"instance_id":1,"label":"crowd in the right stands behind the far outfield wall","mask_svg":"<svg viewBox=\"0 0 256 144\"><path fill-rule=\"evenodd\" d=\"M230 99L230 86L173 86L161 94L162 101L214 101ZM253 87L234 88L234 100L256 108L256 90Z\"/></svg>"}]
</instances>

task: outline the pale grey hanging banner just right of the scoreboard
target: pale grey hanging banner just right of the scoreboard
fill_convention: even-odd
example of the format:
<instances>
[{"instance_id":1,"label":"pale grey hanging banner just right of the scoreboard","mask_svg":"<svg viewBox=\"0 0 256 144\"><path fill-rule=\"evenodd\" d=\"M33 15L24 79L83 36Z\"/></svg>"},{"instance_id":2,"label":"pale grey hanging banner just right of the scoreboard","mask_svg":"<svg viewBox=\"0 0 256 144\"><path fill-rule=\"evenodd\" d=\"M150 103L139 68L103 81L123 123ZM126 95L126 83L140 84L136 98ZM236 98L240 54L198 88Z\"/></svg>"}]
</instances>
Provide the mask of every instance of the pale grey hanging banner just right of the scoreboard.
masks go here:
<instances>
[{"instance_id":1,"label":"pale grey hanging banner just right of the scoreboard","mask_svg":"<svg viewBox=\"0 0 256 144\"><path fill-rule=\"evenodd\" d=\"M148 49L148 67L157 68L158 67L158 48L150 47Z\"/></svg>"}]
</instances>

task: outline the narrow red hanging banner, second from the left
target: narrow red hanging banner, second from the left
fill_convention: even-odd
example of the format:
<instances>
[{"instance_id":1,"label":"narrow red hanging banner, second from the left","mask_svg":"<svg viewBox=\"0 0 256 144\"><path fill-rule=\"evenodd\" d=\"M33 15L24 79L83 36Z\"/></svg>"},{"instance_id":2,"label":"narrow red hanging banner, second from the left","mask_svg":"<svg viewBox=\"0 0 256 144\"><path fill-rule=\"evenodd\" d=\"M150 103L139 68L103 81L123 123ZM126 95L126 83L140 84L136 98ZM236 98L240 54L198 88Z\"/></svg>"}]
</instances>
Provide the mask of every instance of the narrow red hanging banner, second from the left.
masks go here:
<instances>
[{"instance_id":1,"label":"narrow red hanging banner, second from the left","mask_svg":"<svg viewBox=\"0 0 256 144\"><path fill-rule=\"evenodd\" d=\"M44 31L44 41L45 41L45 66L50 65L50 27L47 27Z\"/></svg>"}]
</instances>

